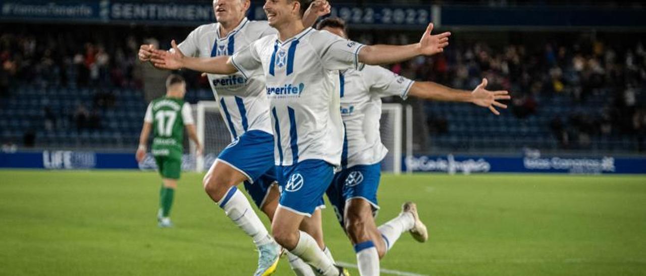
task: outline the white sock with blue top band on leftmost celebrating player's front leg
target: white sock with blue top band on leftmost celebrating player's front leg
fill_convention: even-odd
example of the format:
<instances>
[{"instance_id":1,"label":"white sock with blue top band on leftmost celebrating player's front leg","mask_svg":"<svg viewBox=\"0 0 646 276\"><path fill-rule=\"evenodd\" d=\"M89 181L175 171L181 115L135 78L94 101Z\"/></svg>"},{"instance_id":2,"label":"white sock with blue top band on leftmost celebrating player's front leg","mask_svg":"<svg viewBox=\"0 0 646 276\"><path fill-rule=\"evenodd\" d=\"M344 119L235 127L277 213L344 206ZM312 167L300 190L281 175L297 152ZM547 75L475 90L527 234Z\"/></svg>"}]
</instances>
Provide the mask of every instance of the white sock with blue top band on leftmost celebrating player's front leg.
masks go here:
<instances>
[{"instance_id":1,"label":"white sock with blue top band on leftmost celebrating player's front leg","mask_svg":"<svg viewBox=\"0 0 646 276\"><path fill-rule=\"evenodd\" d=\"M224 198L218 202L220 208L224 209L227 217L233 221L242 231L247 233L249 237L253 238L256 246L262 246L273 241L267 228L265 228L256 212L251 208L251 204L242 192L236 188L231 187L224 195Z\"/></svg>"}]
</instances>

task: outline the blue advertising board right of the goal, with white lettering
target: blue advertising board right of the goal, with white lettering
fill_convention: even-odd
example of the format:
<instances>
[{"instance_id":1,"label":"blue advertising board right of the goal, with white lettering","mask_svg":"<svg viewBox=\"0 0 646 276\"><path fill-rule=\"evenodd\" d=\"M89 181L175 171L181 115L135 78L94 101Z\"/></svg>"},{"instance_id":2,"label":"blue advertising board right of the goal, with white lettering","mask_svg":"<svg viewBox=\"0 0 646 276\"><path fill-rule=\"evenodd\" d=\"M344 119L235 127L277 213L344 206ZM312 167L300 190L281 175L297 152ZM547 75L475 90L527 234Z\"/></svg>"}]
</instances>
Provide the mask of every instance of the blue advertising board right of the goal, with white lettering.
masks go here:
<instances>
[{"instance_id":1,"label":"blue advertising board right of the goal, with white lettering","mask_svg":"<svg viewBox=\"0 0 646 276\"><path fill-rule=\"evenodd\" d=\"M495 157L423 155L404 157L403 170L446 173L646 173L646 157Z\"/></svg>"}]
</instances>

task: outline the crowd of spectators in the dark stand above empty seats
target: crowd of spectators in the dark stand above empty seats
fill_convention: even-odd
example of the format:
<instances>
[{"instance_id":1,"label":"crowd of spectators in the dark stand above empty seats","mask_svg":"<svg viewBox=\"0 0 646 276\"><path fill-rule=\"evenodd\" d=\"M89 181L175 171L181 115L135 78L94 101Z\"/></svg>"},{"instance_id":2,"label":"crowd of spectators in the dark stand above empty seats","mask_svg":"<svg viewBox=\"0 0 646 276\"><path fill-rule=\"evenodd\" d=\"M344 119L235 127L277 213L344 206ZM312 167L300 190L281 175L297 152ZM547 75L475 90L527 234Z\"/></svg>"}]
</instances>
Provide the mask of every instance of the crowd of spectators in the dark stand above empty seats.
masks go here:
<instances>
[{"instance_id":1,"label":"crowd of spectators in the dark stand above empty seats","mask_svg":"<svg viewBox=\"0 0 646 276\"><path fill-rule=\"evenodd\" d=\"M188 31L177 29L168 36L182 37ZM25 84L92 88L96 90L92 103L78 104L68 121L79 131L99 129L99 111L115 104L110 89L141 88L136 52L147 39L151 36L145 32L124 35L114 30L103 36L71 31L0 34L0 97L12 94L12 87ZM386 36L362 32L353 39L402 44L415 38L395 32ZM539 42L457 39L444 54L394 64L391 70L466 90L472 90L486 77L489 89L512 92L510 112L519 119L550 112L548 107L554 97L567 99L574 110L590 104L592 95L603 95L607 100L591 112L566 110L552 115L546 127L563 148L585 148L592 136L633 135L643 139L646 133L646 110L640 101L646 87L646 50L641 41L611 42L581 34ZM208 88L205 79L197 74L189 78L189 84ZM60 120L56 112L48 107L43 112L45 128L55 128ZM446 133L450 129L451 122L442 114L430 114L428 122L433 132Z\"/></svg>"}]
</instances>

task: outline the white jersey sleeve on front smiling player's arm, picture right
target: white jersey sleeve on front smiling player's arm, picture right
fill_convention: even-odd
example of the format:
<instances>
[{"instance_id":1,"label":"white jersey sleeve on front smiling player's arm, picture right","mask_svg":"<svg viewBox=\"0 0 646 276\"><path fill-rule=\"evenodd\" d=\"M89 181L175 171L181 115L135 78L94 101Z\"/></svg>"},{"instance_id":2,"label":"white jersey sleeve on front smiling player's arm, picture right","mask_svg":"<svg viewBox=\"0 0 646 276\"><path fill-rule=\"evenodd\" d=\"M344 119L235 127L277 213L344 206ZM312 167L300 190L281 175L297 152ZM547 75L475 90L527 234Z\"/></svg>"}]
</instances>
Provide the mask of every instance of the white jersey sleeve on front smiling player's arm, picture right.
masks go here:
<instances>
[{"instance_id":1,"label":"white jersey sleeve on front smiling player's arm, picture right","mask_svg":"<svg viewBox=\"0 0 646 276\"><path fill-rule=\"evenodd\" d=\"M328 70L362 70L364 64L359 63L359 51L363 44L343 39L327 31L320 32L313 41L320 49L323 66Z\"/></svg>"}]
</instances>

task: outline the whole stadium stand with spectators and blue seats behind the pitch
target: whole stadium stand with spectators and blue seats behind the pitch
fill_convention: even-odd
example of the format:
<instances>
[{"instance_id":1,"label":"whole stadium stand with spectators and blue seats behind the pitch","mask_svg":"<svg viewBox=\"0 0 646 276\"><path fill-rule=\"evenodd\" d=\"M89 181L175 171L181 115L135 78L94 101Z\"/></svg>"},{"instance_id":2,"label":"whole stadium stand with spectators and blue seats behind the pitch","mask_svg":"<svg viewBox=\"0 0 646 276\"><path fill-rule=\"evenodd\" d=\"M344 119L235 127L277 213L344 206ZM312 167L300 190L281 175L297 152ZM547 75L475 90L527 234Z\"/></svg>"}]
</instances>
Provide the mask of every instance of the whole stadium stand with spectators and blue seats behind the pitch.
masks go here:
<instances>
[{"instance_id":1,"label":"whole stadium stand with spectators and blue seats behind the pitch","mask_svg":"<svg viewBox=\"0 0 646 276\"><path fill-rule=\"evenodd\" d=\"M80 35L92 30L59 27L56 35L47 28L19 27L1 35L0 141L25 148L132 149L147 104L141 64L135 61L137 45L150 37L147 30L112 27ZM123 37L123 32L129 35ZM186 33L171 28L156 40ZM355 39L404 43L415 35L361 32ZM611 48L603 39L583 35L557 42L521 37L500 43L464 34L444 55L391 69L468 90L487 77L489 88L513 92L510 110L501 117L464 104L414 104L426 117L415 137L422 151L643 152L646 51L634 39L620 45ZM189 102L213 99L205 79L185 74Z\"/></svg>"}]
</instances>

